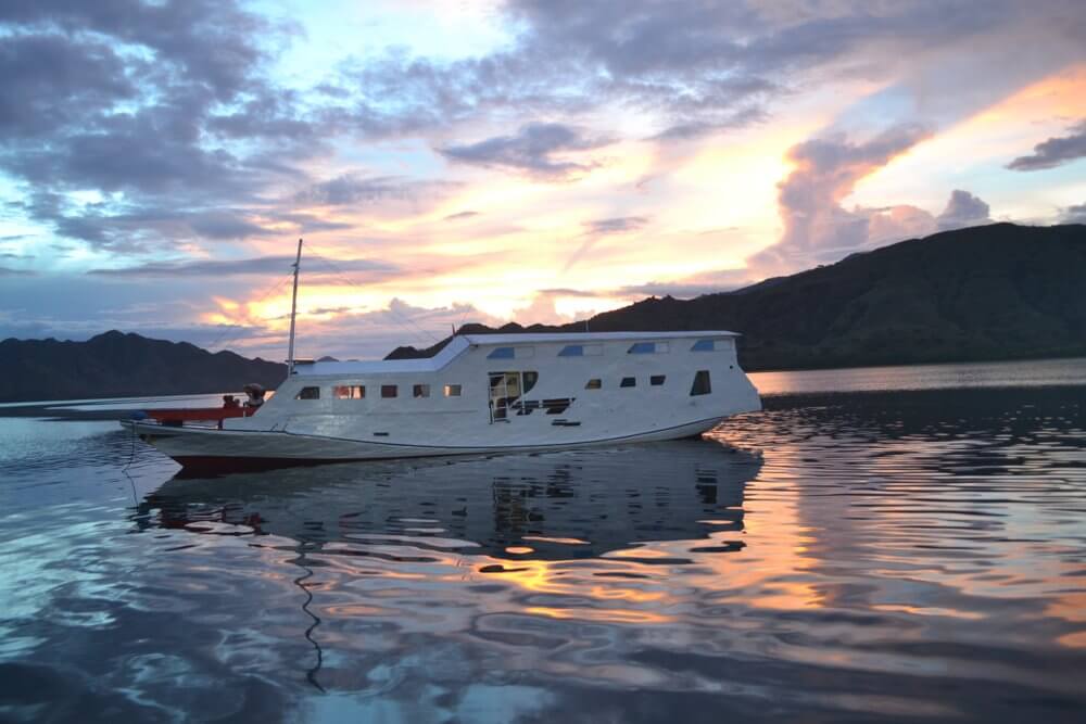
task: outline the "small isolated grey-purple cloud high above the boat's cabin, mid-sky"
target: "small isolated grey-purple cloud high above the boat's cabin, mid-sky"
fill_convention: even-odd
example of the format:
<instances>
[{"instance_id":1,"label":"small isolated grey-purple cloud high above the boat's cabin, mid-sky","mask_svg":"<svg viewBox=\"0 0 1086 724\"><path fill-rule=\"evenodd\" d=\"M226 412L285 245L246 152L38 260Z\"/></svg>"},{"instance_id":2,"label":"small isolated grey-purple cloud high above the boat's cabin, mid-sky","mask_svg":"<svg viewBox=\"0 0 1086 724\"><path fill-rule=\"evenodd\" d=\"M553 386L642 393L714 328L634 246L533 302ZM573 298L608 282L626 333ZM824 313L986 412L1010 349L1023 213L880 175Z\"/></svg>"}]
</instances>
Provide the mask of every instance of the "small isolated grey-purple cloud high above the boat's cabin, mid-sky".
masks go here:
<instances>
[{"instance_id":1,"label":"small isolated grey-purple cloud high above the boat's cabin, mid-sky","mask_svg":"<svg viewBox=\"0 0 1086 724\"><path fill-rule=\"evenodd\" d=\"M477 143L449 145L439 151L446 158L478 166L508 168L543 179L565 180L595 164L561 161L555 154L590 151L611 140L558 123L529 123L513 136L495 136Z\"/></svg>"}]
</instances>

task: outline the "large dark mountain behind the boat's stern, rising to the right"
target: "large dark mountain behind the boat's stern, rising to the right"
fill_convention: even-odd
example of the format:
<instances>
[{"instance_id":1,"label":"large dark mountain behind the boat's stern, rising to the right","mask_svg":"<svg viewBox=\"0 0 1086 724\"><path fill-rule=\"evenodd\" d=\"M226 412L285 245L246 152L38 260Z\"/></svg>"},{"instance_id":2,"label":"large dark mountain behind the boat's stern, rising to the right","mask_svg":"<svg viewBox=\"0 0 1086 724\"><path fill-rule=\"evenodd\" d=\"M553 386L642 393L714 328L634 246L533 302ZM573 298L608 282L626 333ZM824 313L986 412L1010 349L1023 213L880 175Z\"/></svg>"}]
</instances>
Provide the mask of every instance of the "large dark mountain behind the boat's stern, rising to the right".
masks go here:
<instances>
[{"instance_id":1,"label":"large dark mountain behind the boat's stern, rising to the right","mask_svg":"<svg viewBox=\"0 0 1086 724\"><path fill-rule=\"evenodd\" d=\"M733 292L646 299L588 328L734 330L749 371L1086 355L1086 226L945 231ZM429 356L443 344L389 356Z\"/></svg>"}]
</instances>

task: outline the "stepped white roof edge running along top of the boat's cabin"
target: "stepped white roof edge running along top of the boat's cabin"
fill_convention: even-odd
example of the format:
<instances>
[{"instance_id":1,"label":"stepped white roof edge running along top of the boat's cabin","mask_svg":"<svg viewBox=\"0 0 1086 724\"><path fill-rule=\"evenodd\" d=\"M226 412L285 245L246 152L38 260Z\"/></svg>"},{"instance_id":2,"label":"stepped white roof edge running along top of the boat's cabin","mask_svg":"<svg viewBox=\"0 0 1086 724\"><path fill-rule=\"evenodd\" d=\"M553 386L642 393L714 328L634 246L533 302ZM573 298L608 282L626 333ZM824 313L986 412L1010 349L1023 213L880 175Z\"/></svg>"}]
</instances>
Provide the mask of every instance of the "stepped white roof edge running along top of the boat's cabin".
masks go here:
<instances>
[{"instance_id":1,"label":"stepped white roof edge running along top of the boat's cabin","mask_svg":"<svg viewBox=\"0 0 1086 724\"><path fill-rule=\"evenodd\" d=\"M420 359L366 359L359 361L316 361L299 365L300 377L326 374L366 374L396 372L435 372L471 346L518 346L545 343L584 343L621 340L720 339L738 336L736 332L710 330L702 332L560 332L538 334L457 334L432 357Z\"/></svg>"}]
</instances>

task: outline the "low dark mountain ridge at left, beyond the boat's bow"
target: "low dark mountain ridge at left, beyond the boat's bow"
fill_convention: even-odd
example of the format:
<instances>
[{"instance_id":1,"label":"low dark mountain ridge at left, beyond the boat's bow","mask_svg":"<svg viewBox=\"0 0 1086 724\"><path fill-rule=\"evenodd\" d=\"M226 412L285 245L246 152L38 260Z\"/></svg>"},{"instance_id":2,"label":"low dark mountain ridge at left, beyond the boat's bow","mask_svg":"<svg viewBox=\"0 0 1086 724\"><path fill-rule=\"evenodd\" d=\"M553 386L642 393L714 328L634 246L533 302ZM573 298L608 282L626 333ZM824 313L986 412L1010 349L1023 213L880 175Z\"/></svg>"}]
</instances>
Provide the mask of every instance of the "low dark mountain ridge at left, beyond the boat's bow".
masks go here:
<instances>
[{"instance_id":1,"label":"low dark mountain ridge at left, beyond the boat's bow","mask_svg":"<svg viewBox=\"0 0 1086 724\"><path fill-rule=\"evenodd\" d=\"M278 363L117 331L86 342L0 342L0 402L229 392L249 382L274 389L286 377Z\"/></svg>"}]
</instances>

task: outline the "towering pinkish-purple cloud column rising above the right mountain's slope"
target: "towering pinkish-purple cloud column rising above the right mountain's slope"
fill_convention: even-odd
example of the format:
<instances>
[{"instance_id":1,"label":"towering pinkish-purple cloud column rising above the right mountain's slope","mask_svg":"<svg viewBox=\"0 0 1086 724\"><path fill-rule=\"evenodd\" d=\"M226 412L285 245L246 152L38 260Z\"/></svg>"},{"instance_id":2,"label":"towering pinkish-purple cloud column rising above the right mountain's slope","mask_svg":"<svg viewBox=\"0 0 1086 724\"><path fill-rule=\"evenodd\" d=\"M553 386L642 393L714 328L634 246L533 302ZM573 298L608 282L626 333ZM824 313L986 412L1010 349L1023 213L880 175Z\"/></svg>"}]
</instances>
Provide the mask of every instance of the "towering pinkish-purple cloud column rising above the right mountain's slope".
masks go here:
<instances>
[{"instance_id":1,"label":"towering pinkish-purple cloud column rising above the right mountain's slope","mask_svg":"<svg viewBox=\"0 0 1086 724\"><path fill-rule=\"evenodd\" d=\"M781 240L748 259L772 274L800 269L863 246L869 214L848 212L841 202L869 174L929 138L918 125L891 128L855 143L842 135L804 141L788 151L794 170L780 183L784 221Z\"/></svg>"}]
</instances>

